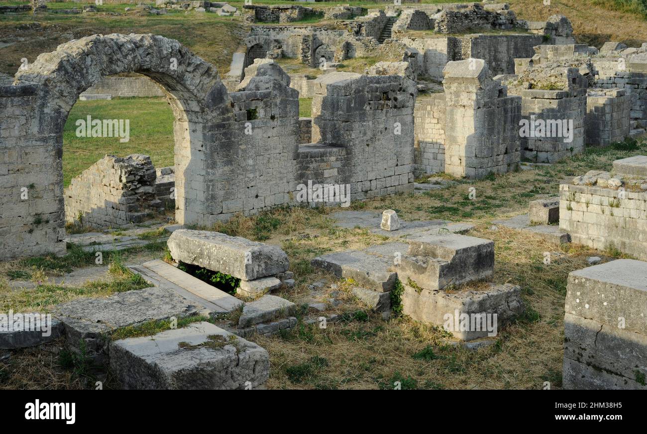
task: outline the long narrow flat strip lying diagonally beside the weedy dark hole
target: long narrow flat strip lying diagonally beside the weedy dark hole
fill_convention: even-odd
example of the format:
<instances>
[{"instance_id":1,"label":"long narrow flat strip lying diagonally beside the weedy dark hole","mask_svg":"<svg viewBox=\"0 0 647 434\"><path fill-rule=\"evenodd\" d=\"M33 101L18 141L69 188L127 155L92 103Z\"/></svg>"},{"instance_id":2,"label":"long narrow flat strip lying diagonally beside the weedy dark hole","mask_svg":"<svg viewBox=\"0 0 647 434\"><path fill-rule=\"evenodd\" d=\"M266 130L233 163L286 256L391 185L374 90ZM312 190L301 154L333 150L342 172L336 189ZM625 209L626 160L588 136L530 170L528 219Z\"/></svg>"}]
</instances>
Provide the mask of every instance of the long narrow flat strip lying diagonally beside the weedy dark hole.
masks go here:
<instances>
[{"instance_id":1,"label":"long narrow flat strip lying diagonally beside the weedy dark hole","mask_svg":"<svg viewBox=\"0 0 647 434\"><path fill-rule=\"evenodd\" d=\"M145 262L142 266L156 272L160 276L164 277L164 279L175 283L175 285L193 292L196 296L204 298L207 301L211 301L214 305L222 307L227 312L230 312L243 304L243 301L236 297L227 294L225 291L219 290L216 287L212 287L208 283L175 268L173 265L167 264L161 259Z\"/></svg>"}]
</instances>

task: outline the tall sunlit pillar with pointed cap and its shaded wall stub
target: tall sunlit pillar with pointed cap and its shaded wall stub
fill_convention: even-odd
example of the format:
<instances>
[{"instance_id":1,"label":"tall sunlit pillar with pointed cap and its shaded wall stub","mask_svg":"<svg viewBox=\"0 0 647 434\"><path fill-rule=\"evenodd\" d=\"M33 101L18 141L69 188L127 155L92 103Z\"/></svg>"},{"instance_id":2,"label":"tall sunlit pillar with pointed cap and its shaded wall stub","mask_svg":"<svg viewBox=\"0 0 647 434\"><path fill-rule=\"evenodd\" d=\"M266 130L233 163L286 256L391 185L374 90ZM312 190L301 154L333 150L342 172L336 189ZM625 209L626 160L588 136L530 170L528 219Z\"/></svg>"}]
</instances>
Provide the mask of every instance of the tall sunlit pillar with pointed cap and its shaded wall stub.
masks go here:
<instances>
[{"instance_id":1,"label":"tall sunlit pillar with pointed cap and its shaded wall stub","mask_svg":"<svg viewBox=\"0 0 647 434\"><path fill-rule=\"evenodd\" d=\"M444 76L446 173L479 179L518 168L521 98L507 96L480 59L447 63Z\"/></svg>"}]
</instances>

